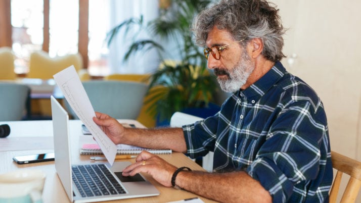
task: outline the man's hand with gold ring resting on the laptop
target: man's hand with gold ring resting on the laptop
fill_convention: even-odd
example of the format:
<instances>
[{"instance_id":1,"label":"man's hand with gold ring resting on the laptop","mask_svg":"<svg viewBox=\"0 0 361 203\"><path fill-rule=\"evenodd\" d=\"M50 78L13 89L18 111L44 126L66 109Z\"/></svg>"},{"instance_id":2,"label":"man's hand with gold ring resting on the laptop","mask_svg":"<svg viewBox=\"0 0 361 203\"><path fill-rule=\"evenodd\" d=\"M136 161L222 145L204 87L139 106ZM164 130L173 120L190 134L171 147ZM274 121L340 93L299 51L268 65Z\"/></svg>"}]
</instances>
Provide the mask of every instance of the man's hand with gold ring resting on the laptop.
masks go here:
<instances>
[{"instance_id":1,"label":"man's hand with gold ring resting on the laptop","mask_svg":"<svg viewBox=\"0 0 361 203\"><path fill-rule=\"evenodd\" d=\"M148 151L142 151L136 158L136 161L136 163L129 165L123 170L123 176L134 176L137 173L144 172L151 175L160 184L166 187L172 186L172 175L177 170L175 166Z\"/></svg>"}]
</instances>

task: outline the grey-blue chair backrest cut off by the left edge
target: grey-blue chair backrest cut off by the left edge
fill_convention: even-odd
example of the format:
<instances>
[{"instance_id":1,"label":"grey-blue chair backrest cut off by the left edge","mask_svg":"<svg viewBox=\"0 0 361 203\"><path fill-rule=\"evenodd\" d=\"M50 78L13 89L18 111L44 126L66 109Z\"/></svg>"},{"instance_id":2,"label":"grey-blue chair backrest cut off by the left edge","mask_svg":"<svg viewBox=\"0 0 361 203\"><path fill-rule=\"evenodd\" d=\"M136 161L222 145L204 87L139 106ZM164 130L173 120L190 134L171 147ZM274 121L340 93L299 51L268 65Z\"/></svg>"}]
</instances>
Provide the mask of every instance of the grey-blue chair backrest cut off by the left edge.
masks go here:
<instances>
[{"instance_id":1,"label":"grey-blue chair backrest cut off by the left edge","mask_svg":"<svg viewBox=\"0 0 361 203\"><path fill-rule=\"evenodd\" d=\"M19 121L25 116L30 88L24 84L0 83L0 121Z\"/></svg>"}]
</instances>

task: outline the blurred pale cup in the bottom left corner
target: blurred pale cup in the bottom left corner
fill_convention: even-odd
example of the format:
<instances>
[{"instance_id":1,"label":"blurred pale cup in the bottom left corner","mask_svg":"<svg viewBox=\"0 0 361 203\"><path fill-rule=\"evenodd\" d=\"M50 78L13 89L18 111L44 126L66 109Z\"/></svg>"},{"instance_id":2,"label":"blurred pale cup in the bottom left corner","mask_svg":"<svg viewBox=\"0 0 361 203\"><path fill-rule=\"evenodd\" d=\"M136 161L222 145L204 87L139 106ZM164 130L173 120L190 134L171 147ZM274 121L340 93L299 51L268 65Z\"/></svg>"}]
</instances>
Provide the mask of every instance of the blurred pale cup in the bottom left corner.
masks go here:
<instances>
[{"instance_id":1,"label":"blurred pale cup in the bottom left corner","mask_svg":"<svg viewBox=\"0 0 361 203\"><path fill-rule=\"evenodd\" d=\"M41 203L46 174L40 170L17 170L0 174L1 203Z\"/></svg>"}]
</instances>

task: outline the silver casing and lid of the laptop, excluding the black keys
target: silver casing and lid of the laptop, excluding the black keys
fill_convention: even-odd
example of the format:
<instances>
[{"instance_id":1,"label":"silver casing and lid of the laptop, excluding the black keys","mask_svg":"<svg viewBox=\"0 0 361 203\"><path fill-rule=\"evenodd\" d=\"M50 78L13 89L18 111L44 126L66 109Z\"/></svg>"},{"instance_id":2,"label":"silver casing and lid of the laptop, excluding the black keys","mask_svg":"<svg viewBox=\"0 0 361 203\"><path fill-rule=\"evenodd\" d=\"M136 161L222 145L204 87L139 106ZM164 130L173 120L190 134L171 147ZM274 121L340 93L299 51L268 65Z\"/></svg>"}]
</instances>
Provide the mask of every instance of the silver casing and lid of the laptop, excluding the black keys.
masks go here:
<instances>
[{"instance_id":1,"label":"silver casing and lid of the laptop, excluding the black keys","mask_svg":"<svg viewBox=\"0 0 361 203\"><path fill-rule=\"evenodd\" d=\"M82 194L84 194L84 192L80 192L76 188L72 178L72 167L77 167L79 165L71 163L68 113L53 96L51 96L51 106L53 117L55 168L71 202L95 202L159 195L159 191L141 174L128 178L121 176L121 171L130 165L130 162L114 162L113 166L110 166L109 163L91 163L89 160L88 164L79 165L89 165L88 167L97 167L92 165L105 165L106 168L111 171L111 176L114 177L124 189L124 193L110 195L94 194L93 196L83 197Z\"/></svg>"}]
</instances>

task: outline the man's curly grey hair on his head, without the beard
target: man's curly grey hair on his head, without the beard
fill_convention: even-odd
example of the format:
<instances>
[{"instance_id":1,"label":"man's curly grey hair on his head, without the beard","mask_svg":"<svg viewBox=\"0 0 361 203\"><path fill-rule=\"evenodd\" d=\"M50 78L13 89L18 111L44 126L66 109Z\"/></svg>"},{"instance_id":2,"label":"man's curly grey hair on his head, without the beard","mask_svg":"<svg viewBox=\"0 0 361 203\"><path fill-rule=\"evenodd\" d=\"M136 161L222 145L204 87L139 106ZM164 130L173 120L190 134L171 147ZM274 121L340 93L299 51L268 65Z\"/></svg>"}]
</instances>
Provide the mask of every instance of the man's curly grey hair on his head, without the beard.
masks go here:
<instances>
[{"instance_id":1,"label":"man's curly grey hair on his head, without the beard","mask_svg":"<svg viewBox=\"0 0 361 203\"><path fill-rule=\"evenodd\" d=\"M221 0L203 10L193 21L196 43L205 46L214 26L228 30L235 40L261 38L262 55L270 61L280 61L285 33L276 6L265 0Z\"/></svg>"}]
</instances>

